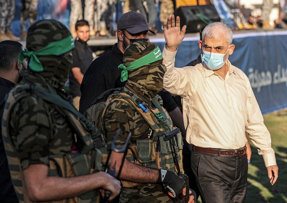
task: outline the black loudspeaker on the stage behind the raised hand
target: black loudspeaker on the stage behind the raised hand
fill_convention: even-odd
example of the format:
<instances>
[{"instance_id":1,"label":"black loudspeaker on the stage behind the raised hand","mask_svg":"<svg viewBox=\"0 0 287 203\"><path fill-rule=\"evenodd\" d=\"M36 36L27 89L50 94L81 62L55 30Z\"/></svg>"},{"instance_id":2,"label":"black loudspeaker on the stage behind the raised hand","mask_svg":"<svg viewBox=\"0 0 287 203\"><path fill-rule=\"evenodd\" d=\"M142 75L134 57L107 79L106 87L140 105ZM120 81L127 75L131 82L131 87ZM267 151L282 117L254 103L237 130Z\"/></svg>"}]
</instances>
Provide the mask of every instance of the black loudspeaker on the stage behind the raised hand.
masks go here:
<instances>
[{"instance_id":1,"label":"black loudspeaker on the stage behind the raised hand","mask_svg":"<svg viewBox=\"0 0 287 203\"><path fill-rule=\"evenodd\" d=\"M220 22L214 5L181 6L175 16L180 17L180 27L187 26L186 32L199 32L201 28L212 22Z\"/></svg>"}]
</instances>

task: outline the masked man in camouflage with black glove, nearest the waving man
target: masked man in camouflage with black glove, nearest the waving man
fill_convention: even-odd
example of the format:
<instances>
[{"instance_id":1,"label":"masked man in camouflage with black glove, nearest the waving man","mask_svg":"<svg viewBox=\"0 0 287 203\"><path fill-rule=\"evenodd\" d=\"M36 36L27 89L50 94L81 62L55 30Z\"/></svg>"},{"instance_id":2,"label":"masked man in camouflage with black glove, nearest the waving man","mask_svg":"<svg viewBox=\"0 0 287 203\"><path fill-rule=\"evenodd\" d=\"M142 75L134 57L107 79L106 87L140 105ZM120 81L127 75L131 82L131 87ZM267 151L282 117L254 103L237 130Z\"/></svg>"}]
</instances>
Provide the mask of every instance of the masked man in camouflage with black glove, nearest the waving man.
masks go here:
<instances>
[{"instance_id":1,"label":"masked man in camouflage with black glove, nearest the waving man","mask_svg":"<svg viewBox=\"0 0 287 203\"><path fill-rule=\"evenodd\" d=\"M129 132L132 134L131 144L120 175L123 183L121 203L173 202L173 198L178 196L181 191L184 194L186 192L184 180L175 174L170 144L164 138L165 132L170 132L173 129L172 121L169 116L163 121L160 119L162 116L156 117L154 114L154 112L158 112L158 108L153 105L153 98L161 100L157 93L162 90L163 76L166 71L162 60L160 49L151 42L139 41L127 46L123 55L124 64L119 66L123 69L121 81L127 80L124 88L127 91L112 94L106 102L103 126L105 126L108 148L118 128L120 131L115 140L115 145L118 147L124 145ZM133 97L136 95L138 104L142 104L148 109L145 110L147 114L131 99L124 98L129 98L132 95ZM162 111L164 111L162 114L168 115L163 108ZM182 139L180 134L178 136L177 152L180 155ZM161 147L158 143L155 149L158 139L161 140ZM165 155L161 155L158 148L162 150L162 153L165 151ZM156 156L159 157L155 158ZM111 166L114 166L116 171L119 171L122 157L123 153L112 152ZM147 159L144 160L143 157ZM178 157L181 164L182 157ZM191 196L189 203L194 202L193 198L194 196Z\"/></svg>"}]
</instances>

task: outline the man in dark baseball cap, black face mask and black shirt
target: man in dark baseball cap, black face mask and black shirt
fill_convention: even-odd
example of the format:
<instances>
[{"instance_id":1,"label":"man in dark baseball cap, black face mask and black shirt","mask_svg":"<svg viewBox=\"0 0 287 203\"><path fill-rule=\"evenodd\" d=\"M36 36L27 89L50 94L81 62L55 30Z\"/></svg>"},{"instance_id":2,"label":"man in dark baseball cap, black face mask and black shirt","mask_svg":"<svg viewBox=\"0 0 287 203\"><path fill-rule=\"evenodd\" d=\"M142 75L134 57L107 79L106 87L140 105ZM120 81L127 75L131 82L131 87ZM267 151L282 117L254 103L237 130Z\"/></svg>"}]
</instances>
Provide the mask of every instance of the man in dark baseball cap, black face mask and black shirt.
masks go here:
<instances>
[{"instance_id":1,"label":"man in dark baseball cap, black face mask and black shirt","mask_svg":"<svg viewBox=\"0 0 287 203\"><path fill-rule=\"evenodd\" d=\"M140 13L129 11L121 15L118 21L118 42L112 50L96 58L84 74L80 99L79 112L84 111L101 93L108 89L125 86L121 82L121 69L118 66L123 63L123 53L127 46L135 41L149 41L146 18ZM99 102L106 101L103 99Z\"/></svg>"}]
</instances>

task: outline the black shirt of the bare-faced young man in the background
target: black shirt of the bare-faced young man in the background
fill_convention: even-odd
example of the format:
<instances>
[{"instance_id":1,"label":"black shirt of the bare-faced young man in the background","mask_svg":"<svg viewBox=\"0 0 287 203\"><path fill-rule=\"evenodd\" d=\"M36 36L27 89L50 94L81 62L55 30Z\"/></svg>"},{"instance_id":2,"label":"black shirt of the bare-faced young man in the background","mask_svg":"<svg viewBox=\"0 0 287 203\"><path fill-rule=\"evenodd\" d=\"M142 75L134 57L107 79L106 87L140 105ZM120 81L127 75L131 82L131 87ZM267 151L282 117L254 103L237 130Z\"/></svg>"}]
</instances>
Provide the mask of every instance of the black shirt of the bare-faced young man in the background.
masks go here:
<instances>
[{"instance_id":1,"label":"black shirt of the bare-faced young man in the background","mask_svg":"<svg viewBox=\"0 0 287 203\"><path fill-rule=\"evenodd\" d=\"M77 40L75 40L75 48L73 50L72 67L79 67L81 72L85 74L92 62L92 50L86 42L77 38ZM80 84L75 79L72 71L69 73L69 87L72 97L81 96Z\"/></svg>"}]
</instances>

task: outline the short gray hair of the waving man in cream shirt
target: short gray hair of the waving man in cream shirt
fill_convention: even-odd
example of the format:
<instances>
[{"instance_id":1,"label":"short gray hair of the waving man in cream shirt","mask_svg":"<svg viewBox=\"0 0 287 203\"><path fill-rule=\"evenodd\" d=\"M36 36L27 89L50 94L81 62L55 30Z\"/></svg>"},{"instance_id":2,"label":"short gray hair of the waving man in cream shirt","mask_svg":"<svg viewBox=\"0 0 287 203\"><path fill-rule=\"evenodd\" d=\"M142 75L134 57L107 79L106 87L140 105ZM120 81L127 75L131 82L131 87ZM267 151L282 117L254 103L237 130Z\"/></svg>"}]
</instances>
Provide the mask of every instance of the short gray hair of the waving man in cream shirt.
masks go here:
<instances>
[{"instance_id":1,"label":"short gray hair of the waving man in cream shirt","mask_svg":"<svg viewBox=\"0 0 287 203\"><path fill-rule=\"evenodd\" d=\"M222 35L225 36L227 44L230 45L232 43L232 30L222 22L215 22L204 28L202 40L204 41L205 37L217 39Z\"/></svg>"}]
</instances>

